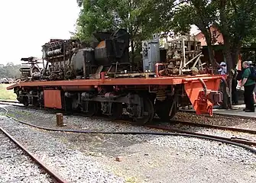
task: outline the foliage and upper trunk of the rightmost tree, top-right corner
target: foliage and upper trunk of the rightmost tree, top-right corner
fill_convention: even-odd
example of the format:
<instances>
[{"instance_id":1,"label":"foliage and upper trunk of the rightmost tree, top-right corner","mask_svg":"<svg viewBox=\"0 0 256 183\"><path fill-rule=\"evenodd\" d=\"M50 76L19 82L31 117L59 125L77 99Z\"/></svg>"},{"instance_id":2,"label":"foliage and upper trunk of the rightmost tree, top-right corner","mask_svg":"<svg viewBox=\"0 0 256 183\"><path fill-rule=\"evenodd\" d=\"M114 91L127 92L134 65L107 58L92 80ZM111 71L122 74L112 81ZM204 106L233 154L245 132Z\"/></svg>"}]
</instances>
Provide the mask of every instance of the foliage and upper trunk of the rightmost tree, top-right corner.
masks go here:
<instances>
[{"instance_id":1,"label":"foliage and upper trunk of the rightmost tree, top-right corner","mask_svg":"<svg viewBox=\"0 0 256 183\"><path fill-rule=\"evenodd\" d=\"M215 25L224 39L229 71L238 63L242 43L256 34L256 7L253 0L219 0L219 20Z\"/></svg>"}]
</instances>

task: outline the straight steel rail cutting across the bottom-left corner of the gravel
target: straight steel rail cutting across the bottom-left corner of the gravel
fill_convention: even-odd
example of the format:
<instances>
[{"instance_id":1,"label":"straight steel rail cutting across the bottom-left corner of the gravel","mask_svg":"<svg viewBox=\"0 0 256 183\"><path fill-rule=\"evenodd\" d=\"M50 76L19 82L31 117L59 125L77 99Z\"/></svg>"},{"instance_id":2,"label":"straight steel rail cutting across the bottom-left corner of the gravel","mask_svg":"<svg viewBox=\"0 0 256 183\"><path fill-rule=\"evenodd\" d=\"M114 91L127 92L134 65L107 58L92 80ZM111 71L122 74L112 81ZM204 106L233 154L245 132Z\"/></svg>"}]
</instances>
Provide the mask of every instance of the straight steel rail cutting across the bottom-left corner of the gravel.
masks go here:
<instances>
[{"instance_id":1,"label":"straight steel rail cutting across the bottom-left corner of the gravel","mask_svg":"<svg viewBox=\"0 0 256 183\"><path fill-rule=\"evenodd\" d=\"M26 154L28 154L28 156L31 157L31 159L33 159L35 162L37 162L38 165L40 165L41 167L43 167L44 171L47 172L55 181L57 181L58 183L67 183L68 181L66 181L65 179L63 179L60 175L58 175L56 172L53 172L52 169L50 169L44 162L42 162L37 156L35 156L34 154L32 154L31 152L28 151L28 149L26 149L23 145L21 145L21 143L19 143L17 140L15 140L15 138L13 136L11 136L6 130L4 130L2 127L0 127L0 130L2 131L2 133L5 134L5 136L8 136L8 138L15 143L20 149L22 149L23 152L25 152Z\"/></svg>"}]
</instances>

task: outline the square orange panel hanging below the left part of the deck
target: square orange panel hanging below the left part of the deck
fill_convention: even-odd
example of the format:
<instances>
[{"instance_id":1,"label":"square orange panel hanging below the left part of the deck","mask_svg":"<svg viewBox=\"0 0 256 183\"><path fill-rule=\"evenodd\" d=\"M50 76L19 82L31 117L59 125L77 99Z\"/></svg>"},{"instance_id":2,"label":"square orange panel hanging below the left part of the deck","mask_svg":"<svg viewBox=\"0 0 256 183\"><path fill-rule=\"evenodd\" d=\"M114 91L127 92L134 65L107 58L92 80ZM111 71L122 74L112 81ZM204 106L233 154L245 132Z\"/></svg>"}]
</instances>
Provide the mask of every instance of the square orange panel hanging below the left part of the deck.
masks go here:
<instances>
[{"instance_id":1,"label":"square orange panel hanging below the left part of the deck","mask_svg":"<svg viewBox=\"0 0 256 183\"><path fill-rule=\"evenodd\" d=\"M62 108L60 90L44 90L44 107Z\"/></svg>"}]
</instances>

